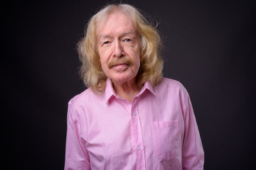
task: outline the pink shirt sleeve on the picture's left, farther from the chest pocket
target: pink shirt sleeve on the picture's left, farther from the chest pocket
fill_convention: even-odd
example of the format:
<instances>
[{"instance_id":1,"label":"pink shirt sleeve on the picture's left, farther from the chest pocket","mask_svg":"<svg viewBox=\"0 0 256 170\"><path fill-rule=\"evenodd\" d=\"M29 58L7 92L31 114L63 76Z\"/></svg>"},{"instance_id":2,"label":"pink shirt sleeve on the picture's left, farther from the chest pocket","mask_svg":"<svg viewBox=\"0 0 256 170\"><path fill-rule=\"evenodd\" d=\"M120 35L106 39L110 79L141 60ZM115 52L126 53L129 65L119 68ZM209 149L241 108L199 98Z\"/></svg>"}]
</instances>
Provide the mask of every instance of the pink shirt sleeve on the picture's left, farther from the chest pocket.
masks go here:
<instances>
[{"instance_id":1,"label":"pink shirt sleeve on the picture's left, farther from the chest pocket","mask_svg":"<svg viewBox=\"0 0 256 170\"><path fill-rule=\"evenodd\" d=\"M81 126L77 113L72 111L70 103L68 105L67 135L65 146L65 166L64 170L89 170L90 158L85 148L86 141L80 137Z\"/></svg>"}]
</instances>

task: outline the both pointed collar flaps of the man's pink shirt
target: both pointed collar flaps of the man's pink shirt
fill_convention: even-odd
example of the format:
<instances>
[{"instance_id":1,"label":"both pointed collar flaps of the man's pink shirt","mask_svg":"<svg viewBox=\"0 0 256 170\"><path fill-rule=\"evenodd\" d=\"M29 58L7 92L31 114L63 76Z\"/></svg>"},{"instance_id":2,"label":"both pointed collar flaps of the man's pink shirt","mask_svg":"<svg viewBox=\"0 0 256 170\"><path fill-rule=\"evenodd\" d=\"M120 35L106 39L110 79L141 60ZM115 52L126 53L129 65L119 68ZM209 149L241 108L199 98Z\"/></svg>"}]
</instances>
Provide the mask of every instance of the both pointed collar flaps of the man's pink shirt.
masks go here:
<instances>
[{"instance_id":1,"label":"both pointed collar flaps of the man's pink shirt","mask_svg":"<svg viewBox=\"0 0 256 170\"><path fill-rule=\"evenodd\" d=\"M149 81L146 81L146 83L144 84L144 86L142 87L142 90L139 92L139 94L137 94L137 96L142 95L145 91L150 91L151 94L155 94L154 92L154 87L151 85L151 83L149 83ZM119 98L119 96L115 93L114 88L112 86L112 82L110 79L107 79L106 81L106 87L105 87L105 101L106 104L110 101L111 98Z\"/></svg>"}]
</instances>

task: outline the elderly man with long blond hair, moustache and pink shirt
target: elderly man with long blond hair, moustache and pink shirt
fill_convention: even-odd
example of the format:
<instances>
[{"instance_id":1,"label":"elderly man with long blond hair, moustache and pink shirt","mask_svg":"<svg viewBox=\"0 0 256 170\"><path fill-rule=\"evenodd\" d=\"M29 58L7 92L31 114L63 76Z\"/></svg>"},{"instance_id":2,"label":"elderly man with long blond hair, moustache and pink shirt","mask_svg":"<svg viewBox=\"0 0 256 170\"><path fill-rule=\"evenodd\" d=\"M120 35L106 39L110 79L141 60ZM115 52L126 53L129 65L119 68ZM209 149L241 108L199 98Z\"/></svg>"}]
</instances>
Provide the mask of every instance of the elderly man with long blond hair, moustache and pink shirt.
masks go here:
<instances>
[{"instance_id":1,"label":"elderly man with long blond hair, moustache and pink shirt","mask_svg":"<svg viewBox=\"0 0 256 170\"><path fill-rule=\"evenodd\" d=\"M88 89L68 103L65 169L203 169L190 98L162 77L160 42L133 6L92 16L78 44Z\"/></svg>"}]
</instances>

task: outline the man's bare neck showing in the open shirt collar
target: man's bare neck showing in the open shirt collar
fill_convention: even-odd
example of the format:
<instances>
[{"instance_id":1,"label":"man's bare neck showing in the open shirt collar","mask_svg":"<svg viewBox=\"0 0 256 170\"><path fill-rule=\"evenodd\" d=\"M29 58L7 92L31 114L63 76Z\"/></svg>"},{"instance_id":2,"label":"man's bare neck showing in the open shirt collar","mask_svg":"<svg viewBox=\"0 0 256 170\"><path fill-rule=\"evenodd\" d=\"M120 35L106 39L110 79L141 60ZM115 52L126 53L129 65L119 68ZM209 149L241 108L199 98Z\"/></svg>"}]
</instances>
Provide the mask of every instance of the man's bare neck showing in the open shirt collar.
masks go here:
<instances>
[{"instance_id":1,"label":"man's bare neck showing in the open shirt collar","mask_svg":"<svg viewBox=\"0 0 256 170\"><path fill-rule=\"evenodd\" d=\"M132 100L139 91L141 90L136 82L136 80L124 82L124 83L117 83L112 81L114 91L121 97L126 99L127 101L132 103Z\"/></svg>"}]
</instances>

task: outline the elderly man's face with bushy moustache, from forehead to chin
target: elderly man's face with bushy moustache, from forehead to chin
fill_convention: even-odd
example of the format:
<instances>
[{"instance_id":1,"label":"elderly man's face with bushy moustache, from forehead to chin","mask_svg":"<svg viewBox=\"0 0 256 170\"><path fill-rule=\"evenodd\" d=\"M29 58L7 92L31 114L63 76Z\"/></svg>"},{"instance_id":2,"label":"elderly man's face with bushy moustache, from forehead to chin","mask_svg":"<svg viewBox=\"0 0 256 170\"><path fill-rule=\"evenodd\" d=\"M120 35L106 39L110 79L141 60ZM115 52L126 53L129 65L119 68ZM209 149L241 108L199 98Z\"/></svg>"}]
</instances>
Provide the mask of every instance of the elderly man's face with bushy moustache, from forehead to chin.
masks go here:
<instances>
[{"instance_id":1,"label":"elderly man's face with bushy moustache, from forehead to chin","mask_svg":"<svg viewBox=\"0 0 256 170\"><path fill-rule=\"evenodd\" d=\"M136 78L140 66L140 40L131 18L111 13L97 30L97 50L102 70L122 84Z\"/></svg>"}]
</instances>

